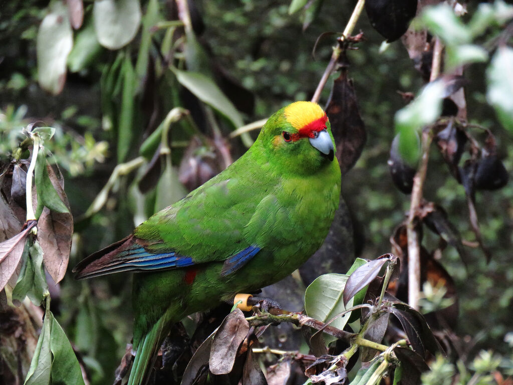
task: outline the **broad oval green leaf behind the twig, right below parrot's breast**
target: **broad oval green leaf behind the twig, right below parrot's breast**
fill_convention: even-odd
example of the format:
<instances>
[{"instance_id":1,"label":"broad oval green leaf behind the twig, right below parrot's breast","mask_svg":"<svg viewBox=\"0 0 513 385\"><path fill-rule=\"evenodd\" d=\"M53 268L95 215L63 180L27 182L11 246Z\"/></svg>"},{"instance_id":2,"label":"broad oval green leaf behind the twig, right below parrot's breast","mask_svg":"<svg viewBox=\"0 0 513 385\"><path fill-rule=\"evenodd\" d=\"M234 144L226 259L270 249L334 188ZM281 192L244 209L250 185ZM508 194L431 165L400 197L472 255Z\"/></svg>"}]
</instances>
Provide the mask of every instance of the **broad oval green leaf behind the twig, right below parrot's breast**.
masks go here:
<instances>
[{"instance_id":1,"label":"broad oval green leaf behind the twig, right below parrot's breast","mask_svg":"<svg viewBox=\"0 0 513 385\"><path fill-rule=\"evenodd\" d=\"M324 274L310 283L305 291L306 314L319 321L327 322L346 310L342 294L348 278L349 276L345 274ZM352 304L353 300L351 299L347 303L347 307L351 307ZM346 313L333 320L330 325L342 330L349 316L350 313ZM325 339L326 343L334 340L328 336Z\"/></svg>"}]
</instances>

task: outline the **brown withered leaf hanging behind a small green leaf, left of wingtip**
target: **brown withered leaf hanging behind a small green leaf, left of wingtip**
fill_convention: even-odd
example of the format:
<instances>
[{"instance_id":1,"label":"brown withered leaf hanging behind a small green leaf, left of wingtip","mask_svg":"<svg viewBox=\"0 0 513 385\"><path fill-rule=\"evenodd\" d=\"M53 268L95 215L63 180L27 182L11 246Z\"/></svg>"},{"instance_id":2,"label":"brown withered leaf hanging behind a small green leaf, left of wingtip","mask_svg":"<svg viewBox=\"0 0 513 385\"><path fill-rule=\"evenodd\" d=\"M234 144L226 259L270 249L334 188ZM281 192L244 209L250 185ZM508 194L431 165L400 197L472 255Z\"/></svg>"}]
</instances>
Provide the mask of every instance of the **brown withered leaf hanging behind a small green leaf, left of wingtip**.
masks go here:
<instances>
[{"instance_id":1,"label":"brown withered leaf hanging behind a small green leaf, left of wingtip","mask_svg":"<svg viewBox=\"0 0 513 385\"><path fill-rule=\"evenodd\" d=\"M58 283L64 278L68 267L73 217L69 212L66 193L51 167L48 167L48 177L58 198L68 209L67 213L57 213L45 207L37 221L37 239L44 251L45 267L55 283Z\"/></svg>"}]
</instances>

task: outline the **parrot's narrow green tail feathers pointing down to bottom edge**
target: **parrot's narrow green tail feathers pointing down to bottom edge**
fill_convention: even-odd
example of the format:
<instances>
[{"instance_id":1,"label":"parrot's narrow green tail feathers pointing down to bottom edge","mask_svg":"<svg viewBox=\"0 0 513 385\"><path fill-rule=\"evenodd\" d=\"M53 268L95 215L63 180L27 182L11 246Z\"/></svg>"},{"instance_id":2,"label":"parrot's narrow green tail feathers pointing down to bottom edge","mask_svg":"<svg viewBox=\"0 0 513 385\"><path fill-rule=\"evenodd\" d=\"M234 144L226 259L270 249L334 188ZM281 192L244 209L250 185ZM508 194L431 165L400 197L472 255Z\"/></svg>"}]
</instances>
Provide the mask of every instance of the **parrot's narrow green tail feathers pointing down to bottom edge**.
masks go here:
<instances>
[{"instance_id":1,"label":"parrot's narrow green tail feathers pointing down to bottom edge","mask_svg":"<svg viewBox=\"0 0 513 385\"><path fill-rule=\"evenodd\" d=\"M150 369L166 336L163 332L168 324L166 312L139 341L128 385L145 385L148 382Z\"/></svg>"}]
</instances>

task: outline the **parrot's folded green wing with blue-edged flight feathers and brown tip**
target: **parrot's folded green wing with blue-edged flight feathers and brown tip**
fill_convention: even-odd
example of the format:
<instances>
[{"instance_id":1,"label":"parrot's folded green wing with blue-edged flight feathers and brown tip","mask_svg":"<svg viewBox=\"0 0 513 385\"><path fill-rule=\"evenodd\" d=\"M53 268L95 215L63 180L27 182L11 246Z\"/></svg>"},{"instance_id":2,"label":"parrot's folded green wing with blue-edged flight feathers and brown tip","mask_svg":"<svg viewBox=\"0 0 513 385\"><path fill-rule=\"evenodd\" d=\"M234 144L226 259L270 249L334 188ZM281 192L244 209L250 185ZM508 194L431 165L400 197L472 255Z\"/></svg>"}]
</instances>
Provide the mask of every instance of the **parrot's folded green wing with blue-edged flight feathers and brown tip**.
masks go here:
<instances>
[{"instance_id":1,"label":"parrot's folded green wing with blue-edged flight feathers and brown tip","mask_svg":"<svg viewBox=\"0 0 513 385\"><path fill-rule=\"evenodd\" d=\"M262 218L275 199L252 190L234 178L203 186L143 222L133 235L80 262L73 269L76 278L213 261L224 262L223 275L232 274L264 246L255 231L270 230ZM255 228L250 234L248 226Z\"/></svg>"}]
</instances>

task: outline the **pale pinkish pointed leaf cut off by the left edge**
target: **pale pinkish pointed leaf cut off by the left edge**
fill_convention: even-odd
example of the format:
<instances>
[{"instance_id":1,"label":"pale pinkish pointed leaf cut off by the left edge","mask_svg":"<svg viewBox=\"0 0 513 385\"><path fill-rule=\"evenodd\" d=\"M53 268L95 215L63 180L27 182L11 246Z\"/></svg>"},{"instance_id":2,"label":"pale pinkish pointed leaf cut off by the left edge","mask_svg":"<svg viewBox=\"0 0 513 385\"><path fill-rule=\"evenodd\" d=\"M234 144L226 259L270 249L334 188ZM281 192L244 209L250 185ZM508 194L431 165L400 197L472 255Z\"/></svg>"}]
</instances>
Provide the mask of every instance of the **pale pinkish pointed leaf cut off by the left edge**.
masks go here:
<instances>
[{"instance_id":1,"label":"pale pinkish pointed leaf cut off by the left edge","mask_svg":"<svg viewBox=\"0 0 513 385\"><path fill-rule=\"evenodd\" d=\"M30 221L21 233L0 243L0 290L3 290L16 271L19 260L22 258L25 240L36 223L36 221Z\"/></svg>"}]
</instances>

